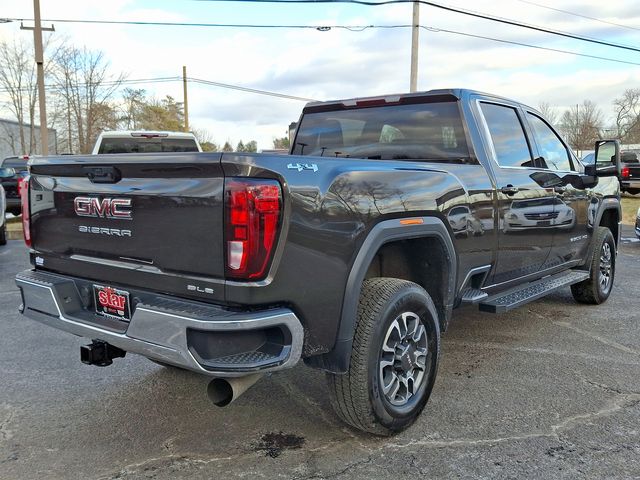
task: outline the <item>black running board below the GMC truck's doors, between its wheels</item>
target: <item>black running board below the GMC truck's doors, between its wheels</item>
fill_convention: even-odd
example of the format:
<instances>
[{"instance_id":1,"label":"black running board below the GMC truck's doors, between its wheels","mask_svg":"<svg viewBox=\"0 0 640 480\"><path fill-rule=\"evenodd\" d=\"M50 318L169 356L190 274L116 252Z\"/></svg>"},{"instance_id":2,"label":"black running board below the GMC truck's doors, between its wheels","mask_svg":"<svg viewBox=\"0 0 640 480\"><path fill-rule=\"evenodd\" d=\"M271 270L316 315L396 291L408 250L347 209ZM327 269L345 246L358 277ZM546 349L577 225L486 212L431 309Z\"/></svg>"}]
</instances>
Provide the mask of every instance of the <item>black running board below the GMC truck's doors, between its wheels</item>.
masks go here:
<instances>
[{"instance_id":1,"label":"black running board below the GMC truck's doors, between its wheels","mask_svg":"<svg viewBox=\"0 0 640 480\"><path fill-rule=\"evenodd\" d=\"M570 270L550 275L535 282L512 288L487 298L479 304L481 312L504 313L534 300L538 300L563 287L589 278L589 272Z\"/></svg>"}]
</instances>

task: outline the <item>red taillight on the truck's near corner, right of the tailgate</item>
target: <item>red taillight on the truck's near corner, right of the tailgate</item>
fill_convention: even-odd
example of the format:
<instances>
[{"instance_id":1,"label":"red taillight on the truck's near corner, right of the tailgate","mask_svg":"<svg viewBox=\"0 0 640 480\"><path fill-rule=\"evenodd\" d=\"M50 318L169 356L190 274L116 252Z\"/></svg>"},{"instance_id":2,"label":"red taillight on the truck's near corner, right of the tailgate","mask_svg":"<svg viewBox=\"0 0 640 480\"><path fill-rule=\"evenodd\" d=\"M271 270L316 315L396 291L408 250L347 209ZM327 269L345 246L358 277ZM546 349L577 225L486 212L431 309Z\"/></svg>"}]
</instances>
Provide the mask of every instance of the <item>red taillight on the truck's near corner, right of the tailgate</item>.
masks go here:
<instances>
[{"instance_id":1,"label":"red taillight on the truck's near corner, right of the tailgate","mask_svg":"<svg viewBox=\"0 0 640 480\"><path fill-rule=\"evenodd\" d=\"M225 181L226 272L240 280L266 276L276 246L282 191L276 180Z\"/></svg>"}]
</instances>

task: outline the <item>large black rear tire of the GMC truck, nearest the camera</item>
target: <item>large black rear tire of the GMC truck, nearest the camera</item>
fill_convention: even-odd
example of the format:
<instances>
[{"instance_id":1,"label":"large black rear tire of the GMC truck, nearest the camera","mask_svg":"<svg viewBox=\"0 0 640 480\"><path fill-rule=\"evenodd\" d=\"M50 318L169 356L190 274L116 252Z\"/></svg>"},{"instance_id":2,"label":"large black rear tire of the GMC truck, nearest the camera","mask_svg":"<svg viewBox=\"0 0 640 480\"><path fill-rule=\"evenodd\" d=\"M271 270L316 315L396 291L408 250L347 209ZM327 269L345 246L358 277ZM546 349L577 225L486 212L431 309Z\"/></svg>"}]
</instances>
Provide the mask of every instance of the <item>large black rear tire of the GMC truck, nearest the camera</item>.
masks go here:
<instances>
[{"instance_id":1,"label":"large black rear tire of the GMC truck, nearest the camera","mask_svg":"<svg viewBox=\"0 0 640 480\"><path fill-rule=\"evenodd\" d=\"M403 322L405 326L415 325L414 333L411 336L410 327L407 327L405 338L398 336L400 340L392 350L395 353L389 353L389 345L395 341L393 335L400 332L400 329L395 330L393 326ZM420 325L424 326L424 340ZM420 351L414 348L417 345L416 336L419 337ZM405 341L407 345L404 344ZM383 345L386 345L386 351L383 350ZM402 348L405 352L402 355L404 360L395 360ZM388 364L390 355L394 364L382 367L381 362ZM418 368L418 359L422 356L424 361ZM344 375L327 374L333 408L344 422L359 430L376 435L400 432L416 420L427 403L436 379L439 357L438 315L429 294L419 285L406 280L365 280L360 294L349 370ZM407 360L408 358L412 360ZM396 362L408 362L406 365L410 372L408 374L413 379L413 392L409 392L409 383L402 385L395 370ZM420 374L420 371L423 373ZM394 384L393 380L389 381L394 377L398 381L399 390L390 390L395 390L396 393L405 391L404 404L393 404L401 397L399 393L397 395L400 396L391 391L389 394L384 393L385 382ZM390 395L394 395L394 398L389 399Z\"/></svg>"}]
</instances>

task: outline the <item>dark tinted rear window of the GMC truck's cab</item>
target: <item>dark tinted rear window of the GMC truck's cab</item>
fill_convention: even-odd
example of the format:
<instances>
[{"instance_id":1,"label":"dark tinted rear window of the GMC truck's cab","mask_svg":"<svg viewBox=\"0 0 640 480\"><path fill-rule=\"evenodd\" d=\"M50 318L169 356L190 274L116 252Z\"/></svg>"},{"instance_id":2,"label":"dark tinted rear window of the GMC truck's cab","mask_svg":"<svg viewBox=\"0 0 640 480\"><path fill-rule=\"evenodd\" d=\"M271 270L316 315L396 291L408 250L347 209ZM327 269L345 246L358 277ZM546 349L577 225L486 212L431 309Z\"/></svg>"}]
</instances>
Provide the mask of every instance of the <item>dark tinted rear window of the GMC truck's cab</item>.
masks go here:
<instances>
[{"instance_id":1,"label":"dark tinted rear window of the GMC truck's cab","mask_svg":"<svg viewBox=\"0 0 640 480\"><path fill-rule=\"evenodd\" d=\"M470 162L456 102L303 115L294 155Z\"/></svg>"}]
</instances>

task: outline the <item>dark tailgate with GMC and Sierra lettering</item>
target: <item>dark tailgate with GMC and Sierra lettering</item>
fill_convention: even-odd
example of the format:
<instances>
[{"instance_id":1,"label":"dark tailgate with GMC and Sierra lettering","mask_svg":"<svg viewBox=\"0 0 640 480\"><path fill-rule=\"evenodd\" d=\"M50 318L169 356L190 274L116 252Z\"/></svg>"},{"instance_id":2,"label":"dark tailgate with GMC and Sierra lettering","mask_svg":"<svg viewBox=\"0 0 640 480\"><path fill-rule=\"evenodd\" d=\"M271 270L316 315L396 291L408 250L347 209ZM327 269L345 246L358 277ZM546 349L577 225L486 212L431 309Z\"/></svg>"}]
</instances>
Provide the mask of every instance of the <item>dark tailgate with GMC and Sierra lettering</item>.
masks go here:
<instances>
[{"instance_id":1,"label":"dark tailgate with GMC and Sierra lettering","mask_svg":"<svg viewBox=\"0 0 640 480\"><path fill-rule=\"evenodd\" d=\"M127 271L224 277L219 154L49 157L31 179L33 247L56 270L122 268L118 280L140 287Z\"/></svg>"}]
</instances>

